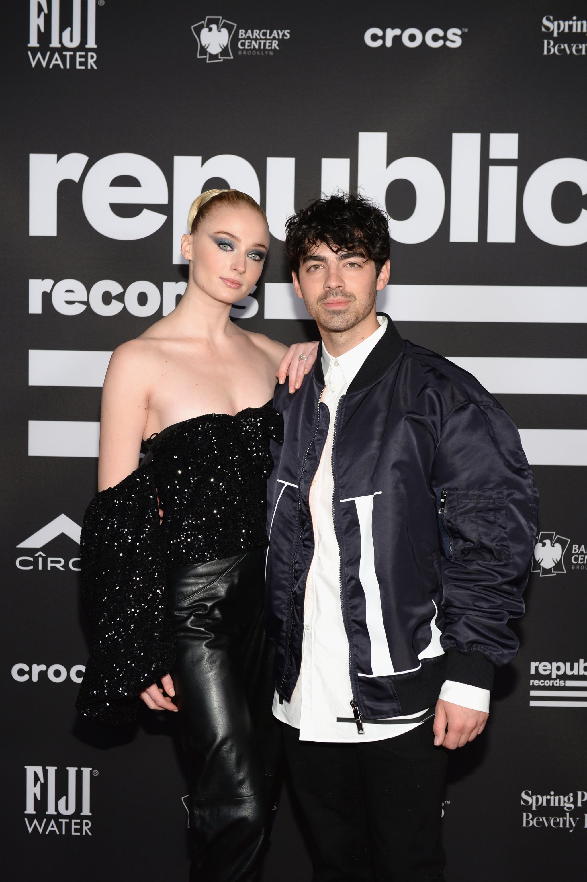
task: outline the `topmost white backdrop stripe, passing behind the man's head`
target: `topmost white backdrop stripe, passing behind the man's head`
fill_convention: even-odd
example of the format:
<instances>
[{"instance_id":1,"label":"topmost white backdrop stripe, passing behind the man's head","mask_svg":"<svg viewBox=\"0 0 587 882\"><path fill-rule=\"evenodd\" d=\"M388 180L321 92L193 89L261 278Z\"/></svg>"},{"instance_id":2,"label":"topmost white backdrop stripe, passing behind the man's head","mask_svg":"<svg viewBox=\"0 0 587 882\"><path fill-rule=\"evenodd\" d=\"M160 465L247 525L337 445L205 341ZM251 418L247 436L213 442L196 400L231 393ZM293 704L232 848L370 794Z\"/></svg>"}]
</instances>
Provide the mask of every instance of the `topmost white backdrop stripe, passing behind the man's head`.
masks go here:
<instances>
[{"instance_id":1,"label":"topmost white backdrop stripe, passing behind the man's head","mask_svg":"<svg viewBox=\"0 0 587 882\"><path fill-rule=\"evenodd\" d=\"M388 285L377 309L397 322L587 323L587 288L568 285ZM265 282L265 318L305 318L286 282Z\"/></svg>"}]
</instances>

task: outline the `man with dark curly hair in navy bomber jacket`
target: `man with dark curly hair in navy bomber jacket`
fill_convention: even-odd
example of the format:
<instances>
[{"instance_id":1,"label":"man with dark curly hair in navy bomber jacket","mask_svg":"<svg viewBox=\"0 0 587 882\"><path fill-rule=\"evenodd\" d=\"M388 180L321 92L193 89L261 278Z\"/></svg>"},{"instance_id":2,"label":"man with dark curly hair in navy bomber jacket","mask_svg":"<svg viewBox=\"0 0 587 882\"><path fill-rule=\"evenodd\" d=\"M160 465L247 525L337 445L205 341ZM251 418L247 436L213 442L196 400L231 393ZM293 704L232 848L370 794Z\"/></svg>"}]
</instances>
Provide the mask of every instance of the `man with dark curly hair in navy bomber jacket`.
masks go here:
<instances>
[{"instance_id":1,"label":"man with dark curly hair in navy bomber jacket","mask_svg":"<svg viewBox=\"0 0 587 882\"><path fill-rule=\"evenodd\" d=\"M538 496L498 402L377 315L383 212L318 199L286 250L322 344L275 396L266 630L314 880L442 879L442 745L479 735L516 654Z\"/></svg>"}]
</instances>

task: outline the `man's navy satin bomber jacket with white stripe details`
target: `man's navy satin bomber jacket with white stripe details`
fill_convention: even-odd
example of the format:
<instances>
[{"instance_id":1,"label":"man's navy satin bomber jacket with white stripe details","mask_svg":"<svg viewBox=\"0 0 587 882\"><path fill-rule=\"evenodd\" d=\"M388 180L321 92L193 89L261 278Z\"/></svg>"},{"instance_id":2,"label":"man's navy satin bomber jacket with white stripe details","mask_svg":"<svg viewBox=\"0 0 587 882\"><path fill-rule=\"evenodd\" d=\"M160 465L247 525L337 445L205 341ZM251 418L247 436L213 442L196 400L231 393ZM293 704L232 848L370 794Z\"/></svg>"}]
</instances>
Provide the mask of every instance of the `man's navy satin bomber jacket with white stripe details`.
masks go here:
<instances>
[{"instance_id":1,"label":"man's navy satin bomber jacket with white stripe details","mask_svg":"<svg viewBox=\"0 0 587 882\"><path fill-rule=\"evenodd\" d=\"M321 349L301 389L275 393L265 629L275 685L301 669L309 512L336 420L332 512L353 698L366 720L434 706L445 679L491 689L518 641L538 493L516 426L471 374L387 331L338 405L320 404Z\"/></svg>"}]
</instances>

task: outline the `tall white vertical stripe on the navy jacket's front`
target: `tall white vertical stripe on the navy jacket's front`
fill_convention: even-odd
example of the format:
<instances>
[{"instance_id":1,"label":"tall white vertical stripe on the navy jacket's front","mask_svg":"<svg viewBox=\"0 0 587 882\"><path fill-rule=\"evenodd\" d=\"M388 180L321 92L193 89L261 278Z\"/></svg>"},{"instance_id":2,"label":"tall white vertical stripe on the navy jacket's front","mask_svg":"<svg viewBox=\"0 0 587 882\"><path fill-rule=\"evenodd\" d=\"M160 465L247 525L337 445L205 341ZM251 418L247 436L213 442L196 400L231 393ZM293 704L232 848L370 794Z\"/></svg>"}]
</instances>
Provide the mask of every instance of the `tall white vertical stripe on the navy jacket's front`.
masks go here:
<instances>
[{"instance_id":1,"label":"tall white vertical stripe on the navy jacket's front","mask_svg":"<svg viewBox=\"0 0 587 882\"><path fill-rule=\"evenodd\" d=\"M372 530L373 499L375 496L380 495L380 493L381 490L379 493L372 494L371 496L354 498L360 527L359 579L365 593L365 623L367 624L368 635L371 641L372 676L388 676L395 673L383 625L381 592L375 572L375 548L373 546ZM352 501L351 499L341 499L341 502Z\"/></svg>"}]
</instances>

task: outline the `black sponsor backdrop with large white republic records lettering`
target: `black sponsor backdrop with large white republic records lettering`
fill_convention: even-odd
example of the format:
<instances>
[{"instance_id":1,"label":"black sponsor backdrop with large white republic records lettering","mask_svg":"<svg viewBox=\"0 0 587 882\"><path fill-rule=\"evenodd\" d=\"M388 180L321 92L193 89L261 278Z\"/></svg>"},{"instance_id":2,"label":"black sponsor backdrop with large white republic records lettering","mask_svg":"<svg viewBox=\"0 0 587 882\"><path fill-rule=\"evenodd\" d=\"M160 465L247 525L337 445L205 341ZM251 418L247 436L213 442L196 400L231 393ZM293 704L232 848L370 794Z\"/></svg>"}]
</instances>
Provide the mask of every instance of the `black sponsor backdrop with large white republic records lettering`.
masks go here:
<instances>
[{"instance_id":1,"label":"black sponsor backdrop with large white republic records lettering","mask_svg":"<svg viewBox=\"0 0 587 882\"><path fill-rule=\"evenodd\" d=\"M221 13L221 14L219 14ZM587 871L587 148L584 4L16 0L2 11L3 866L29 882L186 878L170 714L73 708L79 529L115 346L167 314L189 203L264 206L271 251L234 308L315 326L284 221L321 191L386 206L400 332L472 371L519 427L541 505L521 649L486 732L450 758L451 882ZM264 882L305 882L284 795Z\"/></svg>"}]
</instances>

